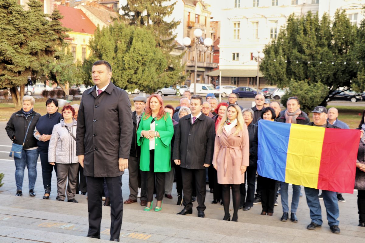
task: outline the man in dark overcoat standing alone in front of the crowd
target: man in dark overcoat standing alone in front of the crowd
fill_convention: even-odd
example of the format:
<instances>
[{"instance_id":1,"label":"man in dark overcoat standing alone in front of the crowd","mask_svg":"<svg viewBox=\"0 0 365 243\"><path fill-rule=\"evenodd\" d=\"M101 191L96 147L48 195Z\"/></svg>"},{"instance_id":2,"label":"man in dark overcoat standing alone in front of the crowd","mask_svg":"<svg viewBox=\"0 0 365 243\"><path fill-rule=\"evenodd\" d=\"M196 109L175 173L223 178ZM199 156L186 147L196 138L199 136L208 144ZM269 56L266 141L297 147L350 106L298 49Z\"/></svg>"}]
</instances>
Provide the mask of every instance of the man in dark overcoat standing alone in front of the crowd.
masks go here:
<instances>
[{"instance_id":1,"label":"man in dark overcoat standing alone in front of the crowd","mask_svg":"<svg viewBox=\"0 0 365 243\"><path fill-rule=\"evenodd\" d=\"M76 155L87 181L87 237L100 239L105 178L111 203L110 240L119 242L123 216L122 175L128 168L133 123L127 92L110 82L111 77L108 62L93 63L95 86L82 94L77 117Z\"/></svg>"}]
</instances>

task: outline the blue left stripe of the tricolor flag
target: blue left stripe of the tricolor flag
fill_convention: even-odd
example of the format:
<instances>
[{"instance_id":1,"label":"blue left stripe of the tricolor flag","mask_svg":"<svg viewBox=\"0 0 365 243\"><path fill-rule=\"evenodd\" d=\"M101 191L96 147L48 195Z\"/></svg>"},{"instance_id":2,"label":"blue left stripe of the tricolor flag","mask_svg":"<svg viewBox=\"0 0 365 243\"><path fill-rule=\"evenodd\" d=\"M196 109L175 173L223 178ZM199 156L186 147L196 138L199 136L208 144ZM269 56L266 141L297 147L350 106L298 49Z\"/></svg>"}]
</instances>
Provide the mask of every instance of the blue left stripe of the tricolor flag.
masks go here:
<instances>
[{"instance_id":1,"label":"blue left stripe of the tricolor flag","mask_svg":"<svg viewBox=\"0 0 365 243\"><path fill-rule=\"evenodd\" d=\"M287 151L291 124L258 121L257 173L278 181L285 181Z\"/></svg>"}]
</instances>

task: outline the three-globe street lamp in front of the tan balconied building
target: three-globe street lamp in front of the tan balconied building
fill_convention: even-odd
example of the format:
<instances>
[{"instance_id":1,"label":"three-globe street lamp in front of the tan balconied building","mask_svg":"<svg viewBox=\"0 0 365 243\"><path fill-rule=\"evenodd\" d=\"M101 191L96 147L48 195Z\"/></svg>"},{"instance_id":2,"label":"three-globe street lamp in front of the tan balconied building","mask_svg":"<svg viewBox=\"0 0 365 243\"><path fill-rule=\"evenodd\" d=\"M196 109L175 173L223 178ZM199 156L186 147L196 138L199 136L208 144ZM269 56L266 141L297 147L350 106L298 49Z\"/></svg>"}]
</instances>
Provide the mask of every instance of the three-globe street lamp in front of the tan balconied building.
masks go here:
<instances>
[{"instance_id":1,"label":"three-globe street lamp in front of the tan balconied building","mask_svg":"<svg viewBox=\"0 0 365 243\"><path fill-rule=\"evenodd\" d=\"M200 37L203 35L203 31L200 29L195 29L194 36L194 46L191 48L187 48L189 52L192 52L195 50L195 70L194 70L194 94L196 91L196 76L197 76L197 63L198 63L198 50L201 52L206 52L209 50L209 47L213 44L213 40L211 38L205 38L203 43L200 42ZM185 37L183 39L183 44L185 47L190 46L191 39L189 37Z\"/></svg>"}]
</instances>

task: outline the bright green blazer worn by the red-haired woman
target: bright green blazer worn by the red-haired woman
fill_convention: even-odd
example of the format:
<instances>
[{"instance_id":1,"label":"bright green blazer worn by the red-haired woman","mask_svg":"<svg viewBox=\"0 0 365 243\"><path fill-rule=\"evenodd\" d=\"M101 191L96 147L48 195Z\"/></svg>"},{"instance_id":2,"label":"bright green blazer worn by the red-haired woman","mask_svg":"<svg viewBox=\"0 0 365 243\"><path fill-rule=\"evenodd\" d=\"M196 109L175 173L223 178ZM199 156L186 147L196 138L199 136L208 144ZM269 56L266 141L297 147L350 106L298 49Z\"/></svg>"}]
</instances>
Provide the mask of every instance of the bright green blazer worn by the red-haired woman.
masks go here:
<instances>
[{"instance_id":1,"label":"bright green blazer worn by the red-haired woman","mask_svg":"<svg viewBox=\"0 0 365 243\"><path fill-rule=\"evenodd\" d=\"M144 120L145 113L142 114L142 119L139 122L137 130L137 144L141 146L141 160L139 163L141 171L150 170L150 140L141 137L142 130L150 130L152 117ZM166 121L165 121L166 118ZM174 134L172 120L168 113L164 117L155 119L155 131L160 134L160 137L155 138L155 158L154 172L169 172L171 171L171 139Z\"/></svg>"}]
</instances>

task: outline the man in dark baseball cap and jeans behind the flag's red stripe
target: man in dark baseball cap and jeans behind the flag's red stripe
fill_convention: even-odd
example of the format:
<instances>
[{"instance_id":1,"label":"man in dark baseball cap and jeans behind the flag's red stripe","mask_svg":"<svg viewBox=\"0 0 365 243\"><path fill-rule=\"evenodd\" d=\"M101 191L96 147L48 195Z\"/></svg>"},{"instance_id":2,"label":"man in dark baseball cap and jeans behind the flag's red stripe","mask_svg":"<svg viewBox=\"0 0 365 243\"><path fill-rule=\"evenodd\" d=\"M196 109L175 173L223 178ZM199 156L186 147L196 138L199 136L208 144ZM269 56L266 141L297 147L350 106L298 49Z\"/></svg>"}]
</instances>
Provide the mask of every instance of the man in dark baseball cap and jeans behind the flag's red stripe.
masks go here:
<instances>
[{"instance_id":1,"label":"man in dark baseball cap and jeans behind the flag's red stripe","mask_svg":"<svg viewBox=\"0 0 365 243\"><path fill-rule=\"evenodd\" d=\"M316 106L313 113L313 122L306 125L308 126L320 126L323 128L338 128L337 126L331 125L328 121L327 109L324 106ZM310 209L310 217L312 222L307 226L308 230L314 230L315 228L321 227L323 220L321 214L321 207L319 203L319 190L309 187L304 187L306 192L307 204ZM330 226L332 233L339 233L340 228L338 227L339 221L339 209L336 192L322 190L324 206L326 207L328 225Z\"/></svg>"}]
</instances>

